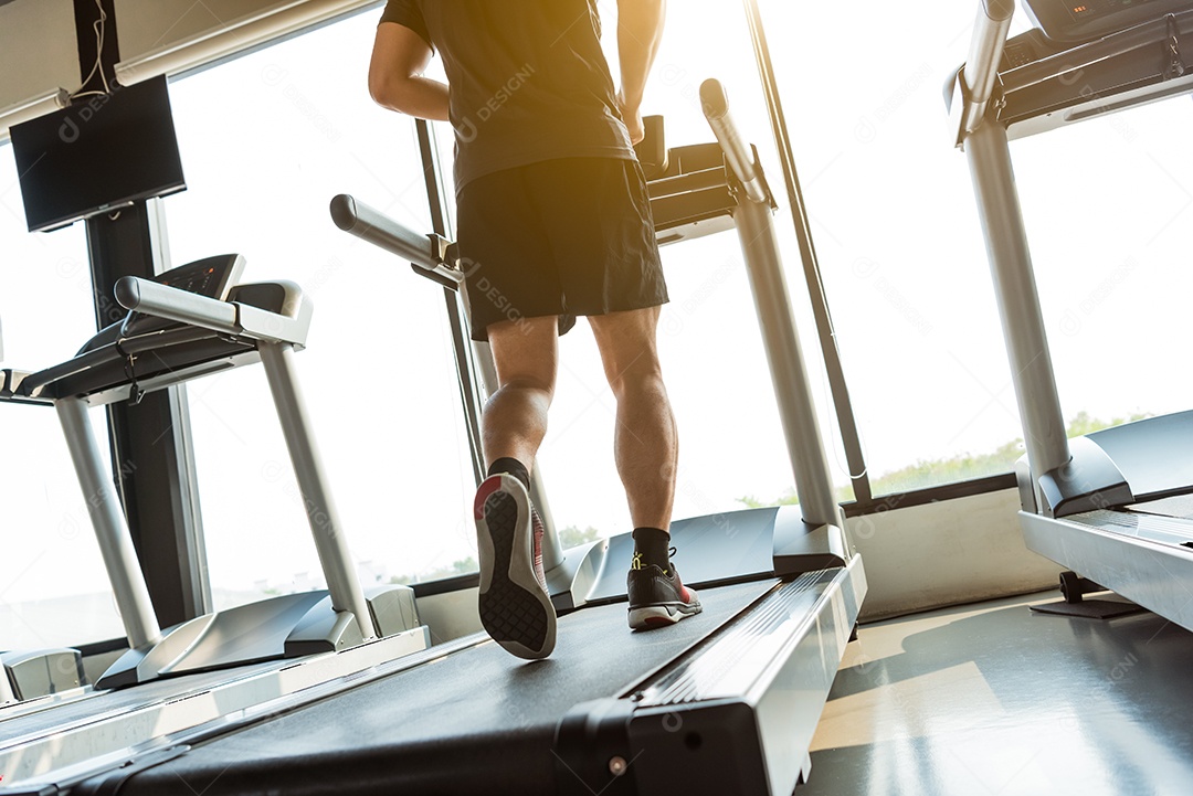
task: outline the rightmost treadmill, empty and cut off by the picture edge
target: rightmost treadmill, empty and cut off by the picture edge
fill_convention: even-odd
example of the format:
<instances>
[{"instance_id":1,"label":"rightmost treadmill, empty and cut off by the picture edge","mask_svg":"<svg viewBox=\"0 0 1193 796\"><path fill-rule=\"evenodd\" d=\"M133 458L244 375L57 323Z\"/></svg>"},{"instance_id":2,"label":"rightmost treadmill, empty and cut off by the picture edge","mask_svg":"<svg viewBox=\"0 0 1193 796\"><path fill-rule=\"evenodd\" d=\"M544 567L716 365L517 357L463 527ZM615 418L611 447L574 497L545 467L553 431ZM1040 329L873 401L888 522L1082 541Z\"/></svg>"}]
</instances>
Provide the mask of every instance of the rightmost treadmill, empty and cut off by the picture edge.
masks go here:
<instances>
[{"instance_id":1,"label":"rightmost treadmill, empty and cut off by the picture edge","mask_svg":"<svg viewBox=\"0 0 1193 796\"><path fill-rule=\"evenodd\" d=\"M1069 602L1112 590L1193 629L1193 411L1067 440L1008 141L1193 92L1193 2L983 0L969 61L946 86L985 234L1026 462L1027 547L1073 572ZM1080 577L1075 577L1080 576Z\"/></svg>"}]
</instances>

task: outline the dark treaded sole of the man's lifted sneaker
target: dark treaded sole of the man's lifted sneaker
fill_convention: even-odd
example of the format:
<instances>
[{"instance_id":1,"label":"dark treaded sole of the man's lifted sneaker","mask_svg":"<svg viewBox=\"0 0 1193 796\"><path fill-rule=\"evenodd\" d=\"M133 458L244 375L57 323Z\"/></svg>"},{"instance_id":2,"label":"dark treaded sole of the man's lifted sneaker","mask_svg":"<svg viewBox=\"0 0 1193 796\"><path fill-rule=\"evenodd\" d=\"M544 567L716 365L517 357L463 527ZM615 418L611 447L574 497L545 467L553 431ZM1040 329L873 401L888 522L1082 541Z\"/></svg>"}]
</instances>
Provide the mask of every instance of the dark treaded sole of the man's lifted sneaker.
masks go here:
<instances>
[{"instance_id":1,"label":"dark treaded sole of the man's lifted sneaker","mask_svg":"<svg viewBox=\"0 0 1193 796\"><path fill-rule=\"evenodd\" d=\"M530 505L519 506L519 497L497 487L478 506L478 609L494 641L511 654L537 660L555 649L555 608L534 577L532 545L517 543L519 510L530 516Z\"/></svg>"}]
</instances>

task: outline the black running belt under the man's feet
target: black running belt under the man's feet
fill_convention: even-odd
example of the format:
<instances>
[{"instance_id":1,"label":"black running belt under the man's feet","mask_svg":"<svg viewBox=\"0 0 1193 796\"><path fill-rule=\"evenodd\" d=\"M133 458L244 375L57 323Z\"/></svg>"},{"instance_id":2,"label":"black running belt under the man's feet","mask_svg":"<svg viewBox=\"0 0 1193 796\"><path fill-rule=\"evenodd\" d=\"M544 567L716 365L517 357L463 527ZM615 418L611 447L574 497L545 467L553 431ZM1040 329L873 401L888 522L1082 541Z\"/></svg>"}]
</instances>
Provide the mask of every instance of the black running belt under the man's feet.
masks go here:
<instances>
[{"instance_id":1,"label":"black running belt under the man's feet","mask_svg":"<svg viewBox=\"0 0 1193 796\"><path fill-rule=\"evenodd\" d=\"M555 729L623 692L755 602L775 580L700 591L704 612L631 633L625 603L561 617L555 653L519 661L486 641L74 792L554 794ZM159 758L160 759L160 758Z\"/></svg>"}]
</instances>

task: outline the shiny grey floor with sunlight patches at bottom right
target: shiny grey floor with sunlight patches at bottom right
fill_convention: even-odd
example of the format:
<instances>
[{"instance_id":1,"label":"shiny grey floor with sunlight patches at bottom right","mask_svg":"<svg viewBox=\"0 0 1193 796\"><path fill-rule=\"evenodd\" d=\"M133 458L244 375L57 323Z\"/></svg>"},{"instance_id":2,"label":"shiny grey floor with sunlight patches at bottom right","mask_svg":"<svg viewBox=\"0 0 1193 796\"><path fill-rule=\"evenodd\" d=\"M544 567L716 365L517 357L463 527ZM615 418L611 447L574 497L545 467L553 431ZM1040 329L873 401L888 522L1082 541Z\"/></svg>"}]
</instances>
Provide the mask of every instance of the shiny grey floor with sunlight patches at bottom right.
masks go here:
<instances>
[{"instance_id":1,"label":"shiny grey floor with sunlight patches at bottom right","mask_svg":"<svg viewBox=\"0 0 1193 796\"><path fill-rule=\"evenodd\" d=\"M1027 608L1058 598L863 627L796 794L1193 794L1193 633Z\"/></svg>"}]
</instances>

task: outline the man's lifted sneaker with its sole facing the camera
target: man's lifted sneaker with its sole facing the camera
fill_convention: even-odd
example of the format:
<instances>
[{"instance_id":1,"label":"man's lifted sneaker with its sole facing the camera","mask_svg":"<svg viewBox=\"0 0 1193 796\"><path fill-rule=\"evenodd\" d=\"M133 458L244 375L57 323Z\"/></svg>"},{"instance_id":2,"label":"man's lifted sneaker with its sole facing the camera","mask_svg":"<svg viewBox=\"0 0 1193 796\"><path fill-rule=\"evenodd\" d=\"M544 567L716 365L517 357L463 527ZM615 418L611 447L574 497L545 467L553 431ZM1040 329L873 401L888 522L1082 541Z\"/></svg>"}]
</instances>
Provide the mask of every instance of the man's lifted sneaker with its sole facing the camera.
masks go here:
<instances>
[{"instance_id":1,"label":"man's lifted sneaker with its sole facing the camera","mask_svg":"<svg viewBox=\"0 0 1193 796\"><path fill-rule=\"evenodd\" d=\"M543 524L514 475L484 479L472 502L481 560L481 624L519 658L555 649L555 607L543 576Z\"/></svg>"}]
</instances>

